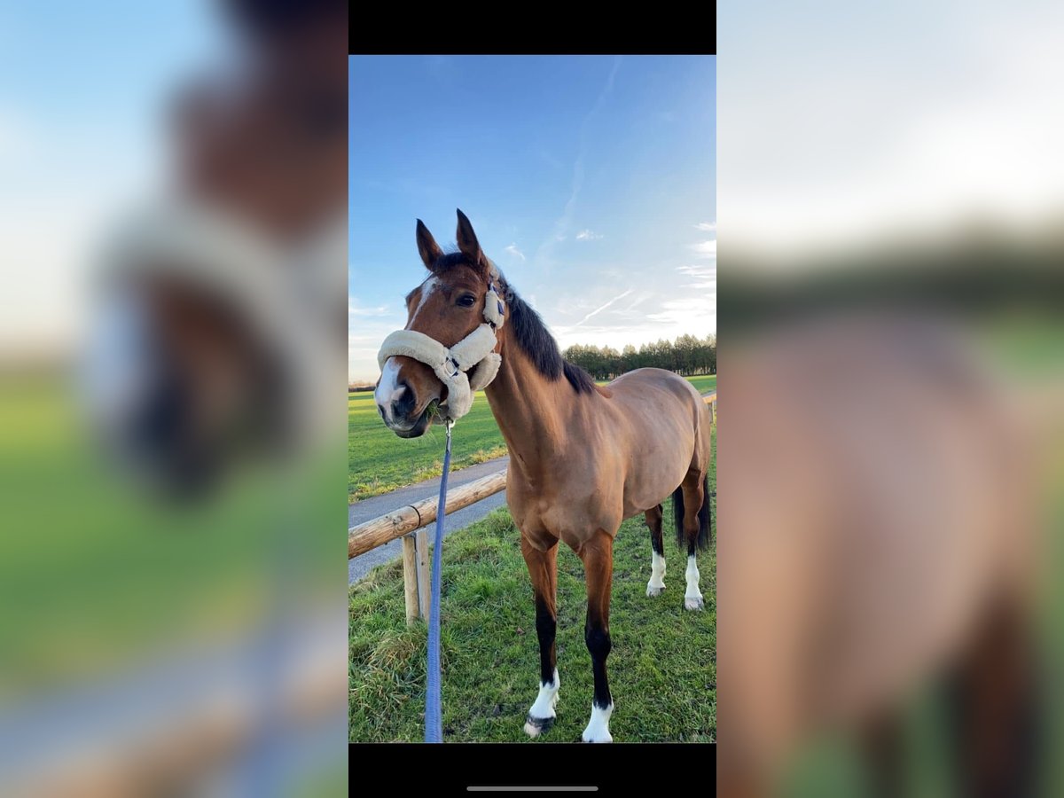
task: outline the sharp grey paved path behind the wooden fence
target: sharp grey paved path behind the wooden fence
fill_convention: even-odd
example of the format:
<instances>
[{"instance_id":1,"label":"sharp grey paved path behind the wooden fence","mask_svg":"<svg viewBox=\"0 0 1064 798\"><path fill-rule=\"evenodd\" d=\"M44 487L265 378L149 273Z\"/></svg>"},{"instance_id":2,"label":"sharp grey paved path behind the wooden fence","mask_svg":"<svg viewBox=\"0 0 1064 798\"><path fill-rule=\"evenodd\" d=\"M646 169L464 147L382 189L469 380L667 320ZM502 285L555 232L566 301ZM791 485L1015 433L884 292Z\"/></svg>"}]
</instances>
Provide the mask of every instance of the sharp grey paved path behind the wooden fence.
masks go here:
<instances>
[{"instance_id":1,"label":"sharp grey paved path behind the wooden fence","mask_svg":"<svg viewBox=\"0 0 1064 798\"><path fill-rule=\"evenodd\" d=\"M477 465L469 466L468 468L451 471L447 487L448 489L454 489L455 487L464 485L467 482L472 482L481 477L487 477L489 473L501 471L506 467L509 462L509 456L497 458L495 460L488 460L484 463L478 463ZM415 501L428 499L430 496L436 497L438 495L439 477L435 477L431 480L426 480L425 482L418 482L416 485L400 487L398 491L393 491L392 493L384 494L383 496L375 496L371 499L363 499L362 501L348 506L347 526L353 527L355 523L371 520L379 515L384 515L385 513L398 510L406 504L413 504ZM488 496L486 499L482 499L476 504L470 504L464 510L449 513L445 525L446 529L444 530L444 536L446 537L451 532L456 532L460 529L468 527L473 521L478 521L483 518L496 508L504 506L505 503L506 492L500 491L495 496ZM433 535L436 531L436 525L430 523L427 529L429 530L429 534ZM353 560L348 560L348 584L353 584L358 580L362 579L369 572L370 568L373 568L382 563L386 563L389 560L400 556L401 554L402 542L393 541L384 546L378 546L372 551L367 551L365 554L356 556Z\"/></svg>"}]
</instances>

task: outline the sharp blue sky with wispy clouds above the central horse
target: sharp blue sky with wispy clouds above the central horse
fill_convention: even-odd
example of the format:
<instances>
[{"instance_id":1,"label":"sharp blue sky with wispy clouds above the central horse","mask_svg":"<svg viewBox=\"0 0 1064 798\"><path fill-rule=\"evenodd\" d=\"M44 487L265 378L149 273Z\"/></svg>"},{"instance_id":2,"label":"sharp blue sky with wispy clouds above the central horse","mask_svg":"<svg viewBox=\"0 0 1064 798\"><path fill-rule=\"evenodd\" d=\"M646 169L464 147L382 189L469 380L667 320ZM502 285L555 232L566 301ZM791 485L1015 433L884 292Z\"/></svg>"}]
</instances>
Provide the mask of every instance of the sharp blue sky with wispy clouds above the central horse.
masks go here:
<instances>
[{"instance_id":1,"label":"sharp blue sky with wispy clouds above the central horse","mask_svg":"<svg viewBox=\"0 0 1064 798\"><path fill-rule=\"evenodd\" d=\"M348 367L405 325L454 209L565 347L716 331L716 60L349 61Z\"/></svg>"}]
</instances>

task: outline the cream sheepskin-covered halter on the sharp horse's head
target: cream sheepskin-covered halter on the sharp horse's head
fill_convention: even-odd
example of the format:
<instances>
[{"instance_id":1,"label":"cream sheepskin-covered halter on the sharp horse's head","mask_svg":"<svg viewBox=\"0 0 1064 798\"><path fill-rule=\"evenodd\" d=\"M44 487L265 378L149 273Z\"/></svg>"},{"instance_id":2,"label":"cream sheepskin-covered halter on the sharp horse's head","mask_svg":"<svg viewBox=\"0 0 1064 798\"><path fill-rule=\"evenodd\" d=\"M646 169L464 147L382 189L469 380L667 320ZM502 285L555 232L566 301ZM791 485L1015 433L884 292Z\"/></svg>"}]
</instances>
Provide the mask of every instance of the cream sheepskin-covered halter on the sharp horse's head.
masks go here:
<instances>
[{"instance_id":1,"label":"cream sheepskin-covered halter on the sharp horse's head","mask_svg":"<svg viewBox=\"0 0 1064 798\"><path fill-rule=\"evenodd\" d=\"M496 330L505 320L494 280L487 284L484 319L450 349L417 330L396 330L381 345L377 364L383 369L388 358L405 356L429 366L447 386L447 401L440 404L445 417L456 421L472 408L472 395L495 379L502 364L502 355L493 351L498 344Z\"/></svg>"}]
</instances>

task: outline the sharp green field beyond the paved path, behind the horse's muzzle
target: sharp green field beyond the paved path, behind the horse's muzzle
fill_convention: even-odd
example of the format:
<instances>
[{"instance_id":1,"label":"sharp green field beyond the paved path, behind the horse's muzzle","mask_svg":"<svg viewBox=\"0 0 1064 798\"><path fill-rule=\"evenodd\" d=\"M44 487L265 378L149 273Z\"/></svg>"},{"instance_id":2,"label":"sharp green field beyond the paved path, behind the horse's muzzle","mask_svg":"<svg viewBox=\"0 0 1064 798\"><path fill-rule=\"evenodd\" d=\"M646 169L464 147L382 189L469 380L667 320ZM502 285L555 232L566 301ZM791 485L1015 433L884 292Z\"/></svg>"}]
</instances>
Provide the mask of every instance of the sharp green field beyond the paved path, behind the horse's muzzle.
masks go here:
<instances>
[{"instance_id":1,"label":"sharp green field beyond the paved path, behind the horse's muzzle","mask_svg":"<svg viewBox=\"0 0 1064 798\"><path fill-rule=\"evenodd\" d=\"M713 390L716 376L691 377L700 392ZM454 435L451 468L483 463L506 453L484 393L477 394L469 415ZM381 422L371 392L348 394L347 399L348 501L380 496L397 487L438 477L443 469L444 432L432 427L419 438L397 437Z\"/></svg>"}]
</instances>

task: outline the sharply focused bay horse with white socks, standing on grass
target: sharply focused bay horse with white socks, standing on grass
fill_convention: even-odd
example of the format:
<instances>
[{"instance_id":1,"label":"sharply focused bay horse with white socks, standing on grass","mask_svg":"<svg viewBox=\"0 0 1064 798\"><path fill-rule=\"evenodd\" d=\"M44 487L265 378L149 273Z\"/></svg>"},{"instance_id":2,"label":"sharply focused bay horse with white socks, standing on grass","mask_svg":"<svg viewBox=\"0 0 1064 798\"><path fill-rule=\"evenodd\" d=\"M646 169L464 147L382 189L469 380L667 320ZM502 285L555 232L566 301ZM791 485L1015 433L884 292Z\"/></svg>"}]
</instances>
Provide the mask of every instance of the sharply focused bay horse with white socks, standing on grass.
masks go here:
<instances>
[{"instance_id":1,"label":"sharply focused bay horse with white socks, standing on grass","mask_svg":"<svg viewBox=\"0 0 1064 798\"><path fill-rule=\"evenodd\" d=\"M648 596L665 588L662 501L672 495L677 537L686 547L684 608L702 609L697 550L710 541L710 412L694 386L662 369L641 368L605 386L562 359L543 320L481 250L469 219L458 212L458 251L444 253L417 222L417 250L429 277L406 296L406 330L453 347L482 323L488 290L501 300L497 330L501 365L485 393L510 449L506 503L520 530L539 642L539 693L525 731L537 736L555 718L559 675L558 543L584 564L584 641L595 687L587 743L609 743L613 697L606 677L613 541L620 522L639 513L650 527ZM494 329L494 328L493 328ZM430 405L446 406L437 373L411 356L390 356L376 390L384 422L402 437L422 435Z\"/></svg>"}]
</instances>

